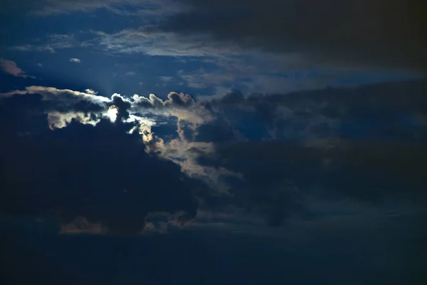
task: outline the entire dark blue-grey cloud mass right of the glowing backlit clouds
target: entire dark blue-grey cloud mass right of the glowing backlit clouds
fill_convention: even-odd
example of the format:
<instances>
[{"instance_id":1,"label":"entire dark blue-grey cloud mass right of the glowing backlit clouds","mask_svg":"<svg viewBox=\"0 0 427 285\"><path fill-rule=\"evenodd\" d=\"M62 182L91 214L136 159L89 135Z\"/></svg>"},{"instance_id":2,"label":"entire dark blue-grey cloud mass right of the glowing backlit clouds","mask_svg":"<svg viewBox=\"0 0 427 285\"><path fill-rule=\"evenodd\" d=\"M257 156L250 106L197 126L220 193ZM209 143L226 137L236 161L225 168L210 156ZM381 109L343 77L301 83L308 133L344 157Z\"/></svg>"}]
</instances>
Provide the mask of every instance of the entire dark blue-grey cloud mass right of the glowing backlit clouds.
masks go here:
<instances>
[{"instance_id":1,"label":"entire dark blue-grey cloud mass right of the glowing backlit clouds","mask_svg":"<svg viewBox=\"0 0 427 285\"><path fill-rule=\"evenodd\" d=\"M201 103L216 119L197 129L194 141L214 142L209 153L193 150L197 162L242 175L222 175L231 197L205 196L204 206L234 205L278 226L307 214L311 195L425 203L426 90L417 81L286 95L235 91Z\"/></svg>"}]
</instances>

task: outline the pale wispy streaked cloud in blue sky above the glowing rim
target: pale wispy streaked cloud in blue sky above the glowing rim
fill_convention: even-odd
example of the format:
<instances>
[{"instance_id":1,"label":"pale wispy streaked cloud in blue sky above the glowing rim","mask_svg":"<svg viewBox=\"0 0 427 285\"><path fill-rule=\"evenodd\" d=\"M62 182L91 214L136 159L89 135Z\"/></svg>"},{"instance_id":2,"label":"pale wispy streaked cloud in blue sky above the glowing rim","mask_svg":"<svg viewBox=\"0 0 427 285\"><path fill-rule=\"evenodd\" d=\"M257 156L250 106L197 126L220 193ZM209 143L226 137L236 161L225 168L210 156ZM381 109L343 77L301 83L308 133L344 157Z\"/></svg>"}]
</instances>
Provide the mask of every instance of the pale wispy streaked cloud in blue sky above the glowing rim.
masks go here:
<instances>
[{"instance_id":1,"label":"pale wispy streaked cloud in blue sky above the glowing rim","mask_svg":"<svg viewBox=\"0 0 427 285\"><path fill-rule=\"evenodd\" d=\"M191 88L219 88L224 84L239 83L235 88L259 88L272 91L283 90L290 82L280 84L283 77L275 82L268 81L264 73L283 73L309 66L307 61L297 53L286 56L268 56L242 49L233 43L218 43L209 35L184 36L174 32L164 32L152 24L139 28L126 28L116 33L104 31L88 31L75 34L52 34L46 43L25 46L14 46L20 51L47 51L48 48L60 50L65 48L96 48L107 54L142 53L149 56L191 56L200 58L206 64L216 66L214 71L204 70L186 73L180 71L178 76L183 78ZM342 74L342 71L340 71ZM133 73L128 73L131 75ZM253 79L249 79L253 78ZM258 79L259 78L259 79ZM265 79L267 78L267 79ZM255 82L249 82L255 80ZM307 86L307 82L300 86ZM323 83L326 86L327 83ZM277 86L277 87L276 87ZM300 87L299 86L299 87ZM323 87L321 86L321 87ZM315 87L318 87L316 85Z\"/></svg>"}]
</instances>

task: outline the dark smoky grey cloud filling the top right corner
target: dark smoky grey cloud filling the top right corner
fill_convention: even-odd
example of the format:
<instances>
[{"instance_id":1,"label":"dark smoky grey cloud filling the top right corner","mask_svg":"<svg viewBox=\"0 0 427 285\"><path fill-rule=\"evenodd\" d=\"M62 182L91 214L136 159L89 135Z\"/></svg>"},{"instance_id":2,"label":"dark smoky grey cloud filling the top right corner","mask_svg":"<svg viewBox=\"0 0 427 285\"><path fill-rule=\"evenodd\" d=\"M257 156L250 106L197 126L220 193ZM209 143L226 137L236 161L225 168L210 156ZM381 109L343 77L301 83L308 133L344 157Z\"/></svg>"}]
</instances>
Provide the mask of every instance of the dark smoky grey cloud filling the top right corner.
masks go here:
<instances>
[{"instance_id":1,"label":"dark smoky grey cloud filling the top right corner","mask_svg":"<svg viewBox=\"0 0 427 285\"><path fill-rule=\"evenodd\" d=\"M422 0L175 0L192 9L159 28L210 34L216 41L310 61L426 71L427 21Z\"/></svg>"}]
</instances>

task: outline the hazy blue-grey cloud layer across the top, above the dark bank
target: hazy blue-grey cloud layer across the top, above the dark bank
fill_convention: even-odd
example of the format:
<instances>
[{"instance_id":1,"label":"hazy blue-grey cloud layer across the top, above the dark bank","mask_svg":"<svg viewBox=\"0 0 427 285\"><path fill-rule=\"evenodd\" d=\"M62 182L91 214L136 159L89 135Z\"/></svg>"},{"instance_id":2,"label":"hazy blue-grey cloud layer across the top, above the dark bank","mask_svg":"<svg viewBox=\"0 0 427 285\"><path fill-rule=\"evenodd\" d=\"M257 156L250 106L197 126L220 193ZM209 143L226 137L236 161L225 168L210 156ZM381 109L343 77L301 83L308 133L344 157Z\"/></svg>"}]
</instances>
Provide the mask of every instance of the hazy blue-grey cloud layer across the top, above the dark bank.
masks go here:
<instances>
[{"instance_id":1,"label":"hazy blue-grey cloud layer across the top, above the dark bank","mask_svg":"<svg viewBox=\"0 0 427 285\"><path fill-rule=\"evenodd\" d=\"M33 14L43 15L36 18L40 21L76 12L88 20L102 12L120 19L120 25L114 20L73 31L43 31L40 37L12 41L4 48L43 56L67 53L66 58L91 53L90 61L102 70L90 73L88 81L108 76L115 81L117 74L126 74L132 93L140 90L137 76L147 77L147 71L135 71L132 59L127 71L110 72L113 67L105 56L120 61L141 57L148 64L159 57L179 58L184 68L156 76L175 76L181 81L170 86L210 95L231 88L288 93L351 86L423 75L426 25L423 4L417 1L42 1L28 6ZM107 74L100 79L98 73ZM107 84L102 85L97 88Z\"/></svg>"}]
</instances>

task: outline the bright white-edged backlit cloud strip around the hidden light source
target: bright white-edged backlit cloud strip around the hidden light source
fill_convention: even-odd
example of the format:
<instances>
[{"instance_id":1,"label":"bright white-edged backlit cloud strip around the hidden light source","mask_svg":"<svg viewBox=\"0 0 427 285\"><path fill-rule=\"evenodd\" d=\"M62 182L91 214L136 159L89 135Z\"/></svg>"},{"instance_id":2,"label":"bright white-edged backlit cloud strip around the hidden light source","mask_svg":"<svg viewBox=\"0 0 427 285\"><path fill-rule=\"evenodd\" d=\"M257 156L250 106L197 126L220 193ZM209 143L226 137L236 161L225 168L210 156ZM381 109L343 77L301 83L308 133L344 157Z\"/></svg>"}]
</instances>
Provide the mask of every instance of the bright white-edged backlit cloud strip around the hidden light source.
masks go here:
<instances>
[{"instance_id":1,"label":"bright white-edged backlit cloud strip around the hidden light source","mask_svg":"<svg viewBox=\"0 0 427 285\"><path fill-rule=\"evenodd\" d=\"M163 118L175 116L180 120L186 120L193 124L201 124L209 120L209 113L204 110L196 112L193 98L184 93L169 93L167 100L162 100L151 94L149 98L134 95L132 98L124 98L122 95L113 94L111 98L97 95L95 90L86 89L85 92L58 89L46 86L28 86L25 90L13 90L0 93L1 98L13 98L16 95L33 95L43 98L46 102L46 112L55 128L63 128L70 120L75 119L80 123L95 125L100 118L107 118L107 110L110 105L119 108L119 120L139 122L142 125L155 125L155 120L145 118L144 115L157 115Z\"/></svg>"}]
</instances>

